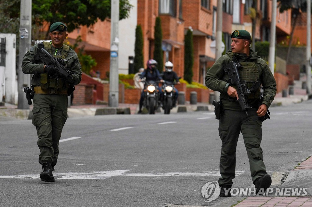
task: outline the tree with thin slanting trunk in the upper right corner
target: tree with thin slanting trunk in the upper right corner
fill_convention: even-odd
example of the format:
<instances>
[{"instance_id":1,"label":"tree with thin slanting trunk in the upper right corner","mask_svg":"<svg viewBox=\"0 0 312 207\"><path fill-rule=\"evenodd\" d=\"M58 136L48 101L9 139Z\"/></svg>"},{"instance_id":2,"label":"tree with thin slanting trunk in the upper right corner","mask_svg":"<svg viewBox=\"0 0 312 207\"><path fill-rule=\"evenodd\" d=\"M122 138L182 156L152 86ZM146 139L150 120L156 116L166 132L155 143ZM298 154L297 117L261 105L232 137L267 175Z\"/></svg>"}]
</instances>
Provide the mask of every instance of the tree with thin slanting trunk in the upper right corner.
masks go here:
<instances>
[{"instance_id":1,"label":"tree with thin slanting trunk in the upper right corner","mask_svg":"<svg viewBox=\"0 0 312 207\"><path fill-rule=\"evenodd\" d=\"M301 15L300 11L307 12L307 2L306 0L277 0L277 3L278 3L278 7L280 7L281 13L284 12L285 10L291 9L291 16L294 17L292 20L293 25L292 25L292 30L290 33L290 39L288 43L288 50L287 50L287 56L286 56L286 63L288 63L297 19L298 19L298 16Z\"/></svg>"}]
</instances>

